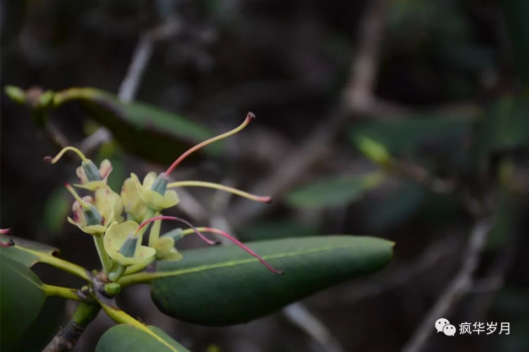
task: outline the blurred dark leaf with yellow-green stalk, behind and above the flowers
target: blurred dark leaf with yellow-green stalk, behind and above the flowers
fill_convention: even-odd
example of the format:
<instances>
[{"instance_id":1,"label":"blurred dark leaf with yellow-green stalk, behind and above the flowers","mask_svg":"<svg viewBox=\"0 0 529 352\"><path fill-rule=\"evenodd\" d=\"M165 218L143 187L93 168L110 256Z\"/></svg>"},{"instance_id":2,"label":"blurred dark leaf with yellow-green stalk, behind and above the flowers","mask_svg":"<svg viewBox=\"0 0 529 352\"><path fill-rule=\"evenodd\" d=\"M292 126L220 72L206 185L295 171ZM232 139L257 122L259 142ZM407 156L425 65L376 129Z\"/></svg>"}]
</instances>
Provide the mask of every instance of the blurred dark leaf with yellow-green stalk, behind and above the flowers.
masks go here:
<instances>
[{"instance_id":1,"label":"blurred dark leaf with yellow-green stalk, behind and above the flowers","mask_svg":"<svg viewBox=\"0 0 529 352\"><path fill-rule=\"evenodd\" d=\"M182 116L149 104L122 103L113 94L95 88L71 88L57 92L54 105L80 101L90 116L107 127L129 153L171 163L189 147L214 135L213 131ZM220 144L204 148L218 152Z\"/></svg>"}]
</instances>

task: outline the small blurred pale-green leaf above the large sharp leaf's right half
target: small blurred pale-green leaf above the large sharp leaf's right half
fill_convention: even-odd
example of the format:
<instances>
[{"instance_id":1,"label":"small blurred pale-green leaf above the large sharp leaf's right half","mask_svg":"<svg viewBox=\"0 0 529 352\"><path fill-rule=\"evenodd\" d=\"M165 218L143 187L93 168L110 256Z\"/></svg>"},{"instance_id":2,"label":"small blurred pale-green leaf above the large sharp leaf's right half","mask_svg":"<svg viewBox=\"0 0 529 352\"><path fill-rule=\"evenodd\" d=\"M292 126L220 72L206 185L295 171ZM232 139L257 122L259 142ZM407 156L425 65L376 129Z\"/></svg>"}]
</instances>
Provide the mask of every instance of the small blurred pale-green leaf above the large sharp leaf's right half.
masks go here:
<instances>
[{"instance_id":1,"label":"small blurred pale-green leaf above the large sharp leaf's right half","mask_svg":"<svg viewBox=\"0 0 529 352\"><path fill-rule=\"evenodd\" d=\"M380 172L328 177L294 189L287 195L287 202L300 208L345 205L357 201L384 179L385 175Z\"/></svg>"}]
</instances>

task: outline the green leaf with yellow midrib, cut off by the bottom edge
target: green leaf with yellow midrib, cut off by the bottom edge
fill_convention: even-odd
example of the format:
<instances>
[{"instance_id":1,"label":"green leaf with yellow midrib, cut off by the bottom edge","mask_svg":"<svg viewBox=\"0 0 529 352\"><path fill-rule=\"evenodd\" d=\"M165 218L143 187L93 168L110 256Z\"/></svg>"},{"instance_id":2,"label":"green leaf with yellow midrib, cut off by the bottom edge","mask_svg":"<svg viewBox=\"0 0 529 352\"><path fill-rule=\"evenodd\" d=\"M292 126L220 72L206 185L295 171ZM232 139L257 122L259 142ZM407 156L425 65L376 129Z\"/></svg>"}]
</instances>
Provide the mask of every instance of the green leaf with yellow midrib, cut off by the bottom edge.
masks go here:
<instances>
[{"instance_id":1,"label":"green leaf with yellow midrib, cut off by the bottom edge","mask_svg":"<svg viewBox=\"0 0 529 352\"><path fill-rule=\"evenodd\" d=\"M188 352L189 350L155 326L148 326L156 335L120 324L108 329L99 339L95 352ZM165 344L162 342L165 341ZM169 345L169 346L168 346Z\"/></svg>"}]
</instances>

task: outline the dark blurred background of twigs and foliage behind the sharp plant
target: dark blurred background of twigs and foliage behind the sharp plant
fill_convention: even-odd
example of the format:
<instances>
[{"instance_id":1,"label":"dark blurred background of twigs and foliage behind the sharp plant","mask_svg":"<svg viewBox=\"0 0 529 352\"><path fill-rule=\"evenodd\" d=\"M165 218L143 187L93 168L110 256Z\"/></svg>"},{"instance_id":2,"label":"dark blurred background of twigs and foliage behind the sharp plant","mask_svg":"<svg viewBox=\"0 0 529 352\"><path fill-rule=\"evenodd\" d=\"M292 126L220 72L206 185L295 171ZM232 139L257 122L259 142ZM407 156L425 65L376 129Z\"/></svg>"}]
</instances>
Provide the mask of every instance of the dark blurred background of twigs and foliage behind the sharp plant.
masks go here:
<instances>
[{"instance_id":1,"label":"dark blurred background of twigs and foliage behind the sharp plant","mask_svg":"<svg viewBox=\"0 0 529 352\"><path fill-rule=\"evenodd\" d=\"M153 306L147 287L121 297L132 316L197 352L401 350L476 254L468 239L486 221L491 231L475 255L474 280L444 318L457 327L510 322L510 335L432 334L422 350L529 350L526 0L2 0L0 6L1 87L95 87L216 132L256 113L220 153L186 160L176 177L270 194L275 202L262 206L188 188L169 213L243 240L348 233L396 242L384 271L250 324L206 328L172 320ZM138 91L126 97L122 82L138 55L145 56L144 71ZM53 110L43 126L2 93L1 117L2 227L96 268L92 239L66 222L71 199L62 185L75 182L78 161L51 166L43 156L57 153L62 137L89 146L97 163L112 160L110 184L118 191L131 171L143 177L167 167L152 161L161 151L132 155L75 102ZM141 116L147 128L152 118ZM381 169L357 148L359 136L384 145L402 169L387 169L376 186L359 186L359 177ZM199 245L182 242L179 248ZM39 265L35 271L48 283L81 284ZM48 316L41 314L20 350L40 350L74 308L48 300ZM92 351L112 324L101 313L75 351Z\"/></svg>"}]
</instances>

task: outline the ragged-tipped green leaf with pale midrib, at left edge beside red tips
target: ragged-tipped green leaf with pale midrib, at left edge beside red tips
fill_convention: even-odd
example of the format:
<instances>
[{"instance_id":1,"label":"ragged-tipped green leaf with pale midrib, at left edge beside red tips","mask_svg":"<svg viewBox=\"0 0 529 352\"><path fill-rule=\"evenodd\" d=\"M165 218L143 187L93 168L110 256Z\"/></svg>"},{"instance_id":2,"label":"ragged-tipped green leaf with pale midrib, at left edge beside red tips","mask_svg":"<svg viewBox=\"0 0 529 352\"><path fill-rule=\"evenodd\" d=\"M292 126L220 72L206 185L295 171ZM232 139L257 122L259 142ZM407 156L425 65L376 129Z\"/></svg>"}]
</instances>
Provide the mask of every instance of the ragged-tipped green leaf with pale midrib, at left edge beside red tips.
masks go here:
<instances>
[{"instance_id":1,"label":"ragged-tipped green leaf with pale midrib, at left edge beside red tips","mask_svg":"<svg viewBox=\"0 0 529 352\"><path fill-rule=\"evenodd\" d=\"M11 258L28 268L39 261L39 255L53 256L53 253L59 252L57 248L52 246L15 236L0 235L0 239L4 243L9 242L10 239L15 243L14 246L2 248L2 258Z\"/></svg>"}]
</instances>

